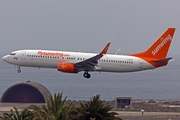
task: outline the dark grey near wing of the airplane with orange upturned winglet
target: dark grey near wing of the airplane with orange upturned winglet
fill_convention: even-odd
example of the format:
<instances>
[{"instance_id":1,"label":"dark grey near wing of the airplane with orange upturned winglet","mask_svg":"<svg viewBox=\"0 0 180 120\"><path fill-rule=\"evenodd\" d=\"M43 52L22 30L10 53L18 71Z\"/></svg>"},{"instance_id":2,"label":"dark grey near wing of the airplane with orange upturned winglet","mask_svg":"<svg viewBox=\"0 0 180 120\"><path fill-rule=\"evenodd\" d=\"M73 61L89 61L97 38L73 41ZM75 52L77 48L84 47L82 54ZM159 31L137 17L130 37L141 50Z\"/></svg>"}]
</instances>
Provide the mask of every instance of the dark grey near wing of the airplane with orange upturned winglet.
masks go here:
<instances>
[{"instance_id":1,"label":"dark grey near wing of the airplane with orange upturned winglet","mask_svg":"<svg viewBox=\"0 0 180 120\"><path fill-rule=\"evenodd\" d=\"M100 69L97 64L98 64L98 60L103 57L104 54L107 53L108 48L110 46L110 42L106 45L106 47L96 56L91 57L89 59L86 59L84 61L75 63L75 70L76 71L94 71L97 69Z\"/></svg>"}]
</instances>

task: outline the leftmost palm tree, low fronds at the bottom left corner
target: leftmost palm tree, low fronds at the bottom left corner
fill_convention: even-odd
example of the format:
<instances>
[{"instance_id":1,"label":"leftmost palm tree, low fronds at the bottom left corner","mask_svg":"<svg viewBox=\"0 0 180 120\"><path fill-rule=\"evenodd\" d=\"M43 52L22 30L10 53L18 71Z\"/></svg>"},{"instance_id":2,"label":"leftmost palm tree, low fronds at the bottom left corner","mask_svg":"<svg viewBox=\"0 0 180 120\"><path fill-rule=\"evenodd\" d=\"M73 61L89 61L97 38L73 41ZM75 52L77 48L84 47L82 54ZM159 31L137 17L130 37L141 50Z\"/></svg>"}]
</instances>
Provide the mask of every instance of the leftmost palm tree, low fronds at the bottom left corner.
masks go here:
<instances>
[{"instance_id":1,"label":"leftmost palm tree, low fronds at the bottom left corner","mask_svg":"<svg viewBox=\"0 0 180 120\"><path fill-rule=\"evenodd\" d=\"M11 109L10 113L4 113L3 117L0 118L3 120L33 120L33 114L27 108L22 112L18 111L16 107L13 109Z\"/></svg>"}]
</instances>

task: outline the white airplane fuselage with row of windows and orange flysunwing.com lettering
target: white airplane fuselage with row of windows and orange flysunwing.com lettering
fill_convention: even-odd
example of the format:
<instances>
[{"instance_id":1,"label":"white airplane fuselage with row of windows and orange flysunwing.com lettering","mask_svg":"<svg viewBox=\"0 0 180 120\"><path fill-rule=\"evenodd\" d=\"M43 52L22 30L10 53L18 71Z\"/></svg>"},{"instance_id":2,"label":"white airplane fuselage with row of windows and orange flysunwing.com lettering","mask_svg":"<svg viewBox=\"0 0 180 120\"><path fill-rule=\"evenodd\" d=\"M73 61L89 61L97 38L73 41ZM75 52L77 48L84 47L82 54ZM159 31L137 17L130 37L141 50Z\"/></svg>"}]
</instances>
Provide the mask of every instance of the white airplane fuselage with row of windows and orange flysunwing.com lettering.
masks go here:
<instances>
[{"instance_id":1,"label":"white airplane fuselage with row of windows and orange flysunwing.com lettering","mask_svg":"<svg viewBox=\"0 0 180 120\"><path fill-rule=\"evenodd\" d=\"M97 55L96 53L49 51L49 50L18 50L3 57L3 60L17 66L55 68L59 62L78 63ZM98 60L94 71L134 72L155 67L145 60L125 55L105 54Z\"/></svg>"}]
</instances>

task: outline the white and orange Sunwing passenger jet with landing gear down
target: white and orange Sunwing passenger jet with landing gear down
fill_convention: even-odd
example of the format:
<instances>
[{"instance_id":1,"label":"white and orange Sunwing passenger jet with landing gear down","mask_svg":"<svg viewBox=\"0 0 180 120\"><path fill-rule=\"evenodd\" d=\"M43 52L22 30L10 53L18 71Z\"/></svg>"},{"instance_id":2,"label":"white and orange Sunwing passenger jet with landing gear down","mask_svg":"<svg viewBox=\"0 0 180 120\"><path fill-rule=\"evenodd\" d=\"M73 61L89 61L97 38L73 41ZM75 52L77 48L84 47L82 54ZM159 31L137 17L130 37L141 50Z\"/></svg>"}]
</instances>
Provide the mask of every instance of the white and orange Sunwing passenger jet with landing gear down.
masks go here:
<instances>
[{"instance_id":1,"label":"white and orange Sunwing passenger jet with landing gear down","mask_svg":"<svg viewBox=\"0 0 180 120\"><path fill-rule=\"evenodd\" d=\"M117 55L107 54L110 42L100 53L50 51L50 50L17 50L5 55L2 59L18 67L55 68L64 73L79 73L90 78L89 72L135 72L166 66L172 57L166 57L175 28L168 28L146 51Z\"/></svg>"}]
</instances>

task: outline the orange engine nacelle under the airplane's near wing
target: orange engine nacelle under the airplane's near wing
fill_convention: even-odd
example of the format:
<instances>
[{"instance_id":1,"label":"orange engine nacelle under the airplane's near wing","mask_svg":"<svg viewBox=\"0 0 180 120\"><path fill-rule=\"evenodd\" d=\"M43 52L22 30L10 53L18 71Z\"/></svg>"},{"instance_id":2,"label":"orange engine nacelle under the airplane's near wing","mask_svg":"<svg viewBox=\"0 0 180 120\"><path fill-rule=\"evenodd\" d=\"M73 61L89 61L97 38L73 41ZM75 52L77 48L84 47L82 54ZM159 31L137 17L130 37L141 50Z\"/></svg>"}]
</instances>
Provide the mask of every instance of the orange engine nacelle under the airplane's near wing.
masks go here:
<instances>
[{"instance_id":1,"label":"orange engine nacelle under the airplane's near wing","mask_svg":"<svg viewBox=\"0 0 180 120\"><path fill-rule=\"evenodd\" d=\"M57 65L58 71L66 72L66 73L78 73L78 71L75 71L74 64L67 63L67 62L59 62Z\"/></svg>"}]
</instances>

